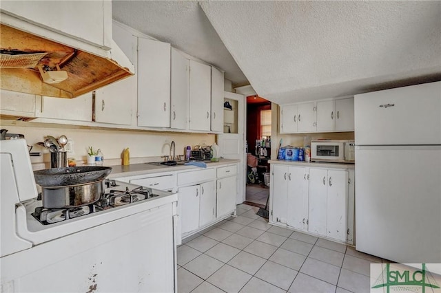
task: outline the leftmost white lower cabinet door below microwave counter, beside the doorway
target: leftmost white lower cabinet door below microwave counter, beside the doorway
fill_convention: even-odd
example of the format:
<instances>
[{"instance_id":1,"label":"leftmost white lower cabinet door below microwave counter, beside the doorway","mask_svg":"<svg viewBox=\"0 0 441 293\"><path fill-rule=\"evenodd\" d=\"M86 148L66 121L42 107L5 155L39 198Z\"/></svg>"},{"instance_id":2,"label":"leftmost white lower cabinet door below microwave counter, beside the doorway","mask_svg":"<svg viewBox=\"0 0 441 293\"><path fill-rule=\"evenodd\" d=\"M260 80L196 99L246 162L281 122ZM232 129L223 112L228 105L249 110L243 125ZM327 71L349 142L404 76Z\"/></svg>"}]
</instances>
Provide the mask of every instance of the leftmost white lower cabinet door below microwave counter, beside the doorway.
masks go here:
<instances>
[{"instance_id":1,"label":"leftmost white lower cabinet door below microwave counter, beside the doorway","mask_svg":"<svg viewBox=\"0 0 441 293\"><path fill-rule=\"evenodd\" d=\"M287 202L288 202L288 166L271 166L271 184L272 191L272 221L287 223Z\"/></svg>"}]
</instances>

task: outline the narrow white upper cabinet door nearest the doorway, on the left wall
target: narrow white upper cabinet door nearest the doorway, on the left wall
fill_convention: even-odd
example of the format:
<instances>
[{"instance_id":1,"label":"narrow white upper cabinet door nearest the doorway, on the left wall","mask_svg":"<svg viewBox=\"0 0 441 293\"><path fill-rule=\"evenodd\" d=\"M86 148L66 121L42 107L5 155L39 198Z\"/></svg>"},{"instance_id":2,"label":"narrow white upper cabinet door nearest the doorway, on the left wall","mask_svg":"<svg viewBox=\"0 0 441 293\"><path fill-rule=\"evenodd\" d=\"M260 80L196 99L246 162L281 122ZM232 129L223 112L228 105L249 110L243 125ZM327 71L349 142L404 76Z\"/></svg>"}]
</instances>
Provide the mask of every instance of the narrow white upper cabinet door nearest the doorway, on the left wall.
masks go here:
<instances>
[{"instance_id":1,"label":"narrow white upper cabinet door nearest the doorway, on the left wall","mask_svg":"<svg viewBox=\"0 0 441 293\"><path fill-rule=\"evenodd\" d=\"M212 131L223 132L223 72L212 66Z\"/></svg>"}]
</instances>

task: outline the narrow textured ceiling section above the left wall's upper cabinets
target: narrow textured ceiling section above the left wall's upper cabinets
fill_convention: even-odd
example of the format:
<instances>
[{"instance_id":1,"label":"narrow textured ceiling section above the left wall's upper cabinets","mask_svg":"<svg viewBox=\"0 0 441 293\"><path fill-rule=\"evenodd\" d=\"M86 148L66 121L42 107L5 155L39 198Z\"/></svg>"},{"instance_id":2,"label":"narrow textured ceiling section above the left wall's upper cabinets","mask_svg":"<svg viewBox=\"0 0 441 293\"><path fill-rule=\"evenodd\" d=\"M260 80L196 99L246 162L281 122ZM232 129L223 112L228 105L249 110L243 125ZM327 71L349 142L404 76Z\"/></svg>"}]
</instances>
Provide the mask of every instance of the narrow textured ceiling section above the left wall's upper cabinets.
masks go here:
<instances>
[{"instance_id":1,"label":"narrow textured ceiling section above the left wall's upper cabinets","mask_svg":"<svg viewBox=\"0 0 441 293\"><path fill-rule=\"evenodd\" d=\"M248 83L197 1L112 0L112 17L224 70L233 84Z\"/></svg>"}]
</instances>

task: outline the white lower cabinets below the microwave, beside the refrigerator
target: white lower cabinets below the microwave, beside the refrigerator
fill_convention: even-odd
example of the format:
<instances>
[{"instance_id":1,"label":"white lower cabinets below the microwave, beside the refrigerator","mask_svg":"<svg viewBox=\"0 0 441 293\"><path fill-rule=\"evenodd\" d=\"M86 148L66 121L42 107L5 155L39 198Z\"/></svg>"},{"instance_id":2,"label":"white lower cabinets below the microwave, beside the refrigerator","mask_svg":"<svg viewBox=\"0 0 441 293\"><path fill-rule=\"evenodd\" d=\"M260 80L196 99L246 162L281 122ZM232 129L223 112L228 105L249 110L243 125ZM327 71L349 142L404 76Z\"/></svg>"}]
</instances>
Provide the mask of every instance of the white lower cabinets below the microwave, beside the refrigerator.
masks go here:
<instances>
[{"instance_id":1,"label":"white lower cabinets below the microwave, beside the refrigerator","mask_svg":"<svg viewBox=\"0 0 441 293\"><path fill-rule=\"evenodd\" d=\"M353 243L353 168L271 164L271 169L271 224Z\"/></svg>"}]
</instances>

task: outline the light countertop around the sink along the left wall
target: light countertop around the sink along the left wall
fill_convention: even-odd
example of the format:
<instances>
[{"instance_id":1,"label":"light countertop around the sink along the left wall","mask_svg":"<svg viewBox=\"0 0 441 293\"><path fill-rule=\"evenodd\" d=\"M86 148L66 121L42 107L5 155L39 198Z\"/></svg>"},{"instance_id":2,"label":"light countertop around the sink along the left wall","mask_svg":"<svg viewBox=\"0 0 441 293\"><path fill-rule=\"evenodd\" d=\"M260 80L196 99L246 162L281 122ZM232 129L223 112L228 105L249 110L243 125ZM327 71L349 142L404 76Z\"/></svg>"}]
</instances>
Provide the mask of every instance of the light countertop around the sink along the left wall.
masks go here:
<instances>
[{"instance_id":1,"label":"light countertop around the sink along the left wall","mask_svg":"<svg viewBox=\"0 0 441 293\"><path fill-rule=\"evenodd\" d=\"M240 160L220 159L219 162L207 162L207 168L218 167L227 164L238 163ZM112 167L112 173L108 178L127 177L134 175L154 174L154 173L166 173L173 171L183 171L191 169L204 169L198 166L192 165L178 165L178 166L158 166L149 163L130 164L128 166L114 165Z\"/></svg>"}]
</instances>

